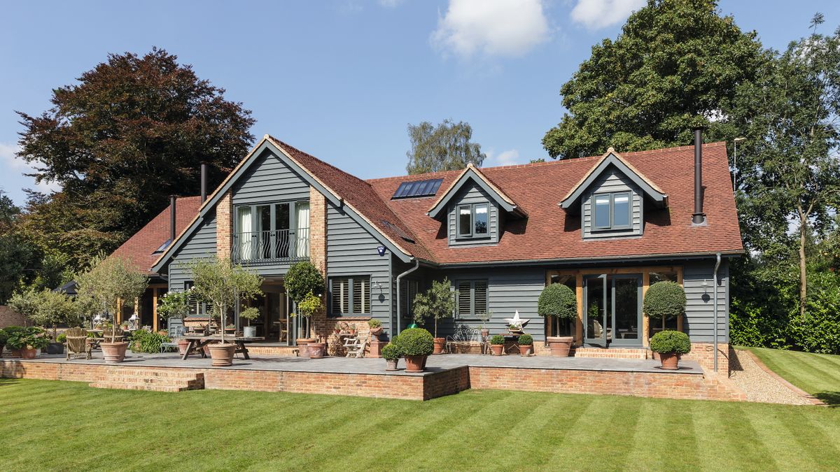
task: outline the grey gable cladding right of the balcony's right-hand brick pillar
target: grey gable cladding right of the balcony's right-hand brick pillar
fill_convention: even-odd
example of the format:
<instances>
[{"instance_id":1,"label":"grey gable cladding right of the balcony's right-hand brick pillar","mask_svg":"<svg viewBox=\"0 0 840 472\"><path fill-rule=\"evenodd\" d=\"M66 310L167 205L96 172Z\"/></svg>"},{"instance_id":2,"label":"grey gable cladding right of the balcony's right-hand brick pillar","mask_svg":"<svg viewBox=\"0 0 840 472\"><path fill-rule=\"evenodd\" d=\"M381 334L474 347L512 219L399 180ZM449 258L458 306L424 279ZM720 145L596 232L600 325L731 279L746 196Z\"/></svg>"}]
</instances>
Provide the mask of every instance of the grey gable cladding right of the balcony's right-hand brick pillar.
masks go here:
<instances>
[{"instance_id":1,"label":"grey gable cladding right of the balcony's right-hand brick pillar","mask_svg":"<svg viewBox=\"0 0 840 472\"><path fill-rule=\"evenodd\" d=\"M379 255L379 246L381 243L346 212L327 203L327 277L370 275L368 314L380 320L390 333L391 251Z\"/></svg>"}]
</instances>

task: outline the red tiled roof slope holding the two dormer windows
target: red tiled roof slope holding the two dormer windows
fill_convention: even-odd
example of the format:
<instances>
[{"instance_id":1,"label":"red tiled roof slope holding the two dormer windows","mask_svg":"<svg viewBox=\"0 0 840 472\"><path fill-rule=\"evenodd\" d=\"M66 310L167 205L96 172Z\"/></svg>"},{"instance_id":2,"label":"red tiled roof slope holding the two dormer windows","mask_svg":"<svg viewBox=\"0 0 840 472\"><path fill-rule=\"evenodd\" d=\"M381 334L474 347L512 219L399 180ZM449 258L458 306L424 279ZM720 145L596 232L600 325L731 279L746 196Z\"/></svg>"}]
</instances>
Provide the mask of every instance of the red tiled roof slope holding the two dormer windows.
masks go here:
<instances>
[{"instance_id":1,"label":"red tiled roof slope holding the two dormer windows","mask_svg":"<svg viewBox=\"0 0 840 472\"><path fill-rule=\"evenodd\" d=\"M622 153L622 158L655 182L669 198L668 208L645 212L641 238L584 240L580 216L572 216L567 222L566 212L558 206L601 156L482 169L528 213L528 218L507 221L495 245L450 248L445 224L426 215L434 197L391 200L402 181L438 177L444 179L441 187L447 188L461 174L460 170L368 182L440 264L743 251L725 143L703 145L704 211L708 224L701 227L691 226L693 146Z\"/></svg>"}]
</instances>

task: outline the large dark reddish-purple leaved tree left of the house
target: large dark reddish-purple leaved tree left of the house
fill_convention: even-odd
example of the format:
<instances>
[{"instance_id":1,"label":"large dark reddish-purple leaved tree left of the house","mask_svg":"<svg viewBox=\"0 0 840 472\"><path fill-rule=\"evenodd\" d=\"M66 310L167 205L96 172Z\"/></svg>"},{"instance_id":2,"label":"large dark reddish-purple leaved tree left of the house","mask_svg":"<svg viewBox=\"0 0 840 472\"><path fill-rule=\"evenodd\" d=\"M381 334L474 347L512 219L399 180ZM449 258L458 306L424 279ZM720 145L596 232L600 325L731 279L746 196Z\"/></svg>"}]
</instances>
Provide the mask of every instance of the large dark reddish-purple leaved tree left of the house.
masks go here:
<instances>
[{"instance_id":1,"label":"large dark reddish-purple leaved tree left of the house","mask_svg":"<svg viewBox=\"0 0 840 472\"><path fill-rule=\"evenodd\" d=\"M108 55L77 80L53 90L46 112L18 112L18 157L35 181L61 186L34 196L28 233L73 262L116 248L169 195L196 195L201 161L218 184L254 139L250 112L165 50Z\"/></svg>"}]
</instances>

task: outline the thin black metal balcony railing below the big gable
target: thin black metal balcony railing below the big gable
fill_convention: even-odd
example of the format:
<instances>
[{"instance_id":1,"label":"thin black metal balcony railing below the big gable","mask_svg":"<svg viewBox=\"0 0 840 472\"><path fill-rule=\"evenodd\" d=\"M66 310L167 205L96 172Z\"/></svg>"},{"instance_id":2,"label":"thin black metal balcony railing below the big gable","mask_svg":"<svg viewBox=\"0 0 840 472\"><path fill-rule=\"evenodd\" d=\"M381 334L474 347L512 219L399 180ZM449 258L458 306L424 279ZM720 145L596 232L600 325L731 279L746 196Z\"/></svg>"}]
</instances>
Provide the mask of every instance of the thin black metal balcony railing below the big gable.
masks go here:
<instances>
[{"instance_id":1,"label":"thin black metal balcony railing below the big gable","mask_svg":"<svg viewBox=\"0 0 840 472\"><path fill-rule=\"evenodd\" d=\"M309 257L309 228L234 233L234 262L265 263Z\"/></svg>"}]
</instances>

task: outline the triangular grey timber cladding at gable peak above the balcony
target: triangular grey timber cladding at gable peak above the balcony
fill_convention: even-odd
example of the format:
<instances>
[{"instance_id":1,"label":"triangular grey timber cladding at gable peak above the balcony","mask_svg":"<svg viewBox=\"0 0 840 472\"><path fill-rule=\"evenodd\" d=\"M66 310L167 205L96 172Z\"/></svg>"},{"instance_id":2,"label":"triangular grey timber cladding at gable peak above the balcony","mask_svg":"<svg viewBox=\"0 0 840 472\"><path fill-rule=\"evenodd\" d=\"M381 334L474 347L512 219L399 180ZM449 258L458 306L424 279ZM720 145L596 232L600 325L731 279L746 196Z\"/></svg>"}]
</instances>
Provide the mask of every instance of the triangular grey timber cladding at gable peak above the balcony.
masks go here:
<instances>
[{"instance_id":1,"label":"triangular grey timber cladding at gable peak above the balcony","mask_svg":"<svg viewBox=\"0 0 840 472\"><path fill-rule=\"evenodd\" d=\"M234 206L308 199L307 181L268 151L260 155L233 189Z\"/></svg>"}]
</instances>

